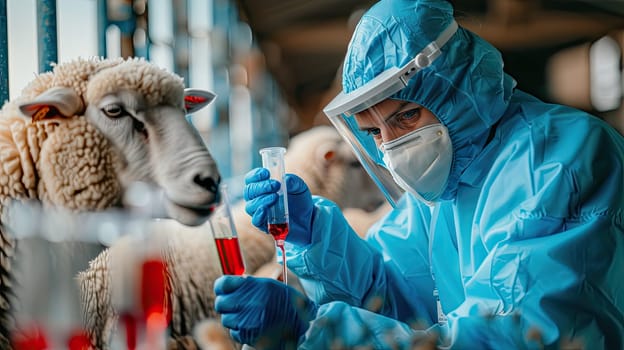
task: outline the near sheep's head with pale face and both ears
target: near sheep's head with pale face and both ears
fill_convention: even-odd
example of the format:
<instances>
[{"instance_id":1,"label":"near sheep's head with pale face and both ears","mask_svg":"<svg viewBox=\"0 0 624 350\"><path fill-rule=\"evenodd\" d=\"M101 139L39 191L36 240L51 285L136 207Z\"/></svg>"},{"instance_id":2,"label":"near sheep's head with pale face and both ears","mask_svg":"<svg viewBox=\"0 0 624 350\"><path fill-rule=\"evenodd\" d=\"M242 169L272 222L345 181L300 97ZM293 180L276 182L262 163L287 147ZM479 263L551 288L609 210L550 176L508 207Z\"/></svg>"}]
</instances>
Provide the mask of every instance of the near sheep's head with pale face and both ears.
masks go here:
<instances>
[{"instance_id":1,"label":"near sheep's head with pale face and both ears","mask_svg":"<svg viewBox=\"0 0 624 350\"><path fill-rule=\"evenodd\" d=\"M170 217L188 225L201 223L218 200L220 176L185 116L214 95L185 90L182 78L145 60L101 67L84 74L86 84L49 88L20 109L33 121L84 116L113 146L123 188L136 181L155 185L165 194Z\"/></svg>"}]
</instances>

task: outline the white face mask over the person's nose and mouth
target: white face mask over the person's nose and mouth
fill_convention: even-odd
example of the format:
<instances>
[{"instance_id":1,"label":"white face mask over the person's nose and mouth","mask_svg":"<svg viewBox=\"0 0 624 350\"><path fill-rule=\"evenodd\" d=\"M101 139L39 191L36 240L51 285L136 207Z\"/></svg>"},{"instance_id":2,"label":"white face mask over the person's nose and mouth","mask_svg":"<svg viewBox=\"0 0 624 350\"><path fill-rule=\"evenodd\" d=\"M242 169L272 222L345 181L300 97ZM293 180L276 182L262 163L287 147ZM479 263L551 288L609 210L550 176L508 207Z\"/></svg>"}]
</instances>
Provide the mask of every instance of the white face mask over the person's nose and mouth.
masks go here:
<instances>
[{"instance_id":1,"label":"white face mask over the person's nose and mouth","mask_svg":"<svg viewBox=\"0 0 624 350\"><path fill-rule=\"evenodd\" d=\"M381 144L383 161L405 191L432 205L444 191L451 171L453 146L439 123Z\"/></svg>"}]
</instances>

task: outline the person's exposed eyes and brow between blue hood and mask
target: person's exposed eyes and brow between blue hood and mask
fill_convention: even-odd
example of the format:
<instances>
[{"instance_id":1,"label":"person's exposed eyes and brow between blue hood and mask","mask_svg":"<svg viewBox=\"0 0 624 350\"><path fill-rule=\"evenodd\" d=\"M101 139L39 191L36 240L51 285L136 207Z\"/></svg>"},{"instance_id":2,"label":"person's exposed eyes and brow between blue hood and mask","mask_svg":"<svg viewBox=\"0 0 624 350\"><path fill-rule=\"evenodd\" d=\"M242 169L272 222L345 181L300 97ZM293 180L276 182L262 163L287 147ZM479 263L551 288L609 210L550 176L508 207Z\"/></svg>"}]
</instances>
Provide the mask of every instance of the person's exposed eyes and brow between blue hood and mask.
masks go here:
<instances>
[{"instance_id":1,"label":"person's exposed eyes and brow between blue hood and mask","mask_svg":"<svg viewBox=\"0 0 624 350\"><path fill-rule=\"evenodd\" d=\"M433 113L412 102L386 99L355 115L358 127L373 137L377 147L423 126L439 123Z\"/></svg>"}]
</instances>

